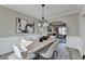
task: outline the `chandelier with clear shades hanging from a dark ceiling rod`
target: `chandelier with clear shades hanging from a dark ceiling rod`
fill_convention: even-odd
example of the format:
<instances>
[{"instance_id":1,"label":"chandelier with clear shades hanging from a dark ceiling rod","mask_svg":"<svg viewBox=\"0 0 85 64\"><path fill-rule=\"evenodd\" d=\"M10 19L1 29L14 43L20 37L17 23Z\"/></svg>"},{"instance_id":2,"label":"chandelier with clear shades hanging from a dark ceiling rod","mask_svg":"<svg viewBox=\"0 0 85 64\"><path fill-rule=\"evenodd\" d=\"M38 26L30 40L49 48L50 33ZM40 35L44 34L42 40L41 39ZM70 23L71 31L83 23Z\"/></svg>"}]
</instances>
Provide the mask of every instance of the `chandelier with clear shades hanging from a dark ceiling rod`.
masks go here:
<instances>
[{"instance_id":1,"label":"chandelier with clear shades hanging from a dark ceiling rod","mask_svg":"<svg viewBox=\"0 0 85 64\"><path fill-rule=\"evenodd\" d=\"M42 18L39 21L39 27L41 28L48 26L47 21L44 20L44 7L45 4L42 4Z\"/></svg>"}]
</instances>

